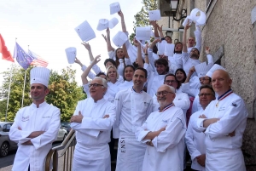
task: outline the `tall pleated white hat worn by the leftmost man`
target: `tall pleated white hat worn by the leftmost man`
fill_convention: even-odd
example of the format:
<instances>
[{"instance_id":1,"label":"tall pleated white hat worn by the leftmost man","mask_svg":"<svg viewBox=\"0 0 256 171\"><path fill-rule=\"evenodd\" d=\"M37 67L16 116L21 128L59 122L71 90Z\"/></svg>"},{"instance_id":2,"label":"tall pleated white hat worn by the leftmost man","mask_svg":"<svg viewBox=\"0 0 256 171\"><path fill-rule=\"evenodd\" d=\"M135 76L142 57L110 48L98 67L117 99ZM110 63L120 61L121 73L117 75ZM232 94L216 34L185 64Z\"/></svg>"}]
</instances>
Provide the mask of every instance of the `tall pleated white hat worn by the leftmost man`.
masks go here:
<instances>
[{"instance_id":1,"label":"tall pleated white hat worn by the leftmost man","mask_svg":"<svg viewBox=\"0 0 256 171\"><path fill-rule=\"evenodd\" d=\"M34 67L30 71L30 84L41 83L48 87L50 70L44 67Z\"/></svg>"}]
</instances>

